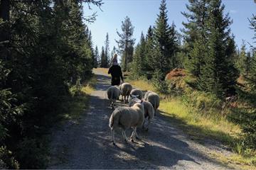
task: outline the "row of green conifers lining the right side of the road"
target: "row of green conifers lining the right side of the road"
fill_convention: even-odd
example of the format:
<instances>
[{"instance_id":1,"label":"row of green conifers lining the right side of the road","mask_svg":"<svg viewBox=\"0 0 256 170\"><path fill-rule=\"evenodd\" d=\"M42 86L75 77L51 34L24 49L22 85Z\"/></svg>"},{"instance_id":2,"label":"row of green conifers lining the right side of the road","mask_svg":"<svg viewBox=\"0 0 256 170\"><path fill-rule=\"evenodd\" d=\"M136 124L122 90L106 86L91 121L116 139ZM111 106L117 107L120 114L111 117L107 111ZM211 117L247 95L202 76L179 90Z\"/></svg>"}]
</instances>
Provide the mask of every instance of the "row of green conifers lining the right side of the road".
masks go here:
<instances>
[{"instance_id":1,"label":"row of green conifers lining the right side of the road","mask_svg":"<svg viewBox=\"0 0 256 170\"><path fill-rule=\"evenodd\" d=\"M235 45L230 25L232 19L224 13L221 0L189 0L188 12L181 33L175 24L168 24L166 0L162 0L154 25L146 35L142 33L134 47L134 26L129 17L122 22L122 33L117 32L117 52L122 57L122 69L132 72L134 79L151 79L164 94L169 91L166 74L174 68L188 73L188 86L202 91L210 98L223 103L228 97L238 98L238 108L230 115L242 128L240 145L242 153L253 154L256 149L256 48L245 42ZM256 18L249 18L256 33ZM256 34L254 36L256 38ZM188 97L188 96L186 96Z\"/></svg>"}]
</instances>

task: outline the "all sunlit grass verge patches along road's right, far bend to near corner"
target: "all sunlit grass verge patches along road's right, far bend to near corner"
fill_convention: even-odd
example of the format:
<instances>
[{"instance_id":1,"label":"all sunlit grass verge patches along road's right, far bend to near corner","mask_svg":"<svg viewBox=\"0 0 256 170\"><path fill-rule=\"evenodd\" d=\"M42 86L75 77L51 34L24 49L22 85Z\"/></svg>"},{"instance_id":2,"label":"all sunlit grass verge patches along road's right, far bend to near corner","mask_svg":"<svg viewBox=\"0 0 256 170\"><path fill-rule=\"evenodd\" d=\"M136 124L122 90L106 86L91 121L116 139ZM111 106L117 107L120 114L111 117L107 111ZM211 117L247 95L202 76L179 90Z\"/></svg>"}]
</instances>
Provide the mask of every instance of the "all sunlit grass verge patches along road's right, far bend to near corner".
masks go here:
<instances>
[{"instance_id":1,"label":"all sunlit grass verge patches along road's right, far bend to near corner","mask_svg":"<svg viewBox=\"0 0 256 170\"><path fill-rule=\"evenodd\" d=\"M129 83L142 90L156 91L149 81L131 80ZM165 94L160 94L160 97L160 113L169 118L171 124L186 132L191 139L200 143L205 139L214 139L230 147L234 146L235 138L240 133L240 127L229 122L220 113L213 113L217 110L210 109L208 112L202 112L188 106L181 97L166 97ZM227 157L217 152L211 152L210 156L224 164L232 164L239 169L256 169L255 157L242 157L236 153Z\"/></svg>"}]
</instances>

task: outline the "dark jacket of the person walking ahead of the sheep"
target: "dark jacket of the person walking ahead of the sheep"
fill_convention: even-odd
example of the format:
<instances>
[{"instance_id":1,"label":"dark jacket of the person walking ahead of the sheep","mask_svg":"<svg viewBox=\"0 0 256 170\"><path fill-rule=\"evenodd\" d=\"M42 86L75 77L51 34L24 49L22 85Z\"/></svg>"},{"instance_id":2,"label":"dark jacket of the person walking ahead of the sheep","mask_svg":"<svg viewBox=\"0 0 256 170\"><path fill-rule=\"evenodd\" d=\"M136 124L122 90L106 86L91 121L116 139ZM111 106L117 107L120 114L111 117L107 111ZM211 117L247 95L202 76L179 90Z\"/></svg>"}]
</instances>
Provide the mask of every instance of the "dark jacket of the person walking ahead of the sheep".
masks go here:
<instances>
[{"instance_id":1,"label":"dark jacket of the person walking ahead of the sheep","mask_svg":"<svg viewBox=\"0 0 256 170\"><path fill-rule=\"evenodd\" d=\"M119 65L112 65L112 67L110 67L108 74L111 74L111 85L119 85L120 84L120 78L122 79L122 81L124 81L123 77L122 77L122 69L121 67L119 67Z\"/></svg>"}]
</instances>

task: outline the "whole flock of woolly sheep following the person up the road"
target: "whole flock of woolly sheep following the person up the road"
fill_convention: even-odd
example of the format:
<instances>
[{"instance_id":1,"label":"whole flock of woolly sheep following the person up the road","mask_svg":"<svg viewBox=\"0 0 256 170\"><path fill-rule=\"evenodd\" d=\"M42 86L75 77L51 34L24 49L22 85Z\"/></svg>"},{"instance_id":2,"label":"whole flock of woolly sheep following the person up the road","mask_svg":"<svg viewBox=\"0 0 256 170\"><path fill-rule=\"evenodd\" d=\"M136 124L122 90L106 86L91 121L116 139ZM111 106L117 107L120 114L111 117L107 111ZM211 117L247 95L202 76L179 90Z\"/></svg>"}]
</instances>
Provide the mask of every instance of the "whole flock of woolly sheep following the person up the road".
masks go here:
<instances>
[{"instance_id":1,"label":"whole flock of woolly sheep following the person up the road","mask_svg":"<svg viewBox=\"0 0 256 170\"><path fill-rule=\"evenodd\" d=\"M128 106L116 106L116 101L122 96L121 101L128 103ZM159 95L153 91L146 91L144 98L143 92L140 89L132 88L129 83L123 83L119 86L110 86L107 89L107 98L110 101L110 106L114 110L110 116L110 130L113 145L114 132L122 129L124 142L128 142L126 130L132 128L130 140L134 142L134 138L139 139L137 128L142 127L144 130L149 130L151 120L156 115L159 108ZM146 123L147 120L147 123ZM146 124L146 125L145 125Z\"/></svg>"}]
</instances>

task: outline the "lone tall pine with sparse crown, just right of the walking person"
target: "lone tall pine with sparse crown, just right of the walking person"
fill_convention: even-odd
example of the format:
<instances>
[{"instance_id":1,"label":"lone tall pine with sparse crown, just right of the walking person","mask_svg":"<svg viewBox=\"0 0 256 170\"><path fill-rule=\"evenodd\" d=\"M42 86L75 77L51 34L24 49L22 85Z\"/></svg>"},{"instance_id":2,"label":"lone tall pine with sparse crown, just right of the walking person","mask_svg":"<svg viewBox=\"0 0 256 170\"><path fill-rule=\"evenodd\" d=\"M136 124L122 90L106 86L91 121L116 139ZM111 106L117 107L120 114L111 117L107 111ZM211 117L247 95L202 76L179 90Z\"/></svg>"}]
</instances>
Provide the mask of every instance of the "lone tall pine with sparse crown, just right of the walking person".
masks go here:
<instances>
[{"instance_id":1,"label":"lone tall pine with sparse crown, just right of the walking person","mask_svg":"<svg viewBox=\"0 0 256 170\"><path fill-rule=\"evenodd\" d=\"M115 40L117 42L119 48L119 54L122 56L122 69L124 71L128 70L128 63L132 62L133 55L133 45L135 42L135 38L132 38L134 32L134 26L132 26L132 22L129 17L126 16L124 21L122 21L122 33L117 31L117 35L119 36L119 40Z\"/></svg>"}]
</instances>

